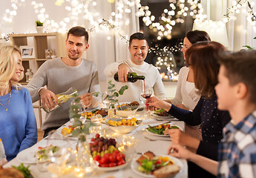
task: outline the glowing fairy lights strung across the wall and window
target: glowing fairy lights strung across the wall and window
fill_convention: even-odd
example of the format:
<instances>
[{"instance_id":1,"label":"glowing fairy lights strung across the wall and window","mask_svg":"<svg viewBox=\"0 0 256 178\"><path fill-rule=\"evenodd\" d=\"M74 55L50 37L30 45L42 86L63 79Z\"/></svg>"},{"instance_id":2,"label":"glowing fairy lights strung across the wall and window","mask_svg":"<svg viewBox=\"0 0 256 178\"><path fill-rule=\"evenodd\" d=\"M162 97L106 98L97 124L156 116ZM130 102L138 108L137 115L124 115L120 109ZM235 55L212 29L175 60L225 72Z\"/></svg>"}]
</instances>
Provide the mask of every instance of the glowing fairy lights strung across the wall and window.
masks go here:
<instances>
[{"instance_id":1,"label":"glowing fairy lights strung across the wall and window","mask_svg":"<svg viewBox=\"0 0 256 178\"><path fill-rule=\"evenodd\" d=\"M194 19L194 23L204 22L207 18L203 14L203 7L200 0L169 0L168 7L163 10L161 16L156 17L151 13L148 6L142 6L140 0L105 0L108 3L115 3L115 11L111 12L108 18L103 19L102 14L97 10L97 6L102 0L56 0L55 5L65 7L67 16L60 21L54 20L54 17L47 13L44 1L40 0L10 0L11 5L1 14L4 22L11 23L18 15L19 7L27 7L30 5L33 8L36 18L44 23L45 32L66 33L67 27L76 26L79 19L82 17L86 22L89 22L88 31L94 33L98 30L112 30L119 39L128 42L128 34L119 27L127 27L130 25L130 19L127 14L131 13L132 8L137 9L135 16L142 17L142 22L153 32L157 33L157 39L171 39L171 32L176 24L185 22L187 16ZM254 1L249 0L234 0L232 7L227 9L227 13L223 16L223 22L229 22L236 19L236 14L244 13L247 21L252 24L256 31L256 16L253 11L255 7ZM10 40L10 33L2 33L1 39ZM111 36L106 36L108 40ZM179 47L151 47L149 53L154 53L157 56L156 66L160 69L166 67L168 73L174 73L172 70L175 67L175 60L171 56L174 51L179 51Z\"/></svg>"}]
</instances>

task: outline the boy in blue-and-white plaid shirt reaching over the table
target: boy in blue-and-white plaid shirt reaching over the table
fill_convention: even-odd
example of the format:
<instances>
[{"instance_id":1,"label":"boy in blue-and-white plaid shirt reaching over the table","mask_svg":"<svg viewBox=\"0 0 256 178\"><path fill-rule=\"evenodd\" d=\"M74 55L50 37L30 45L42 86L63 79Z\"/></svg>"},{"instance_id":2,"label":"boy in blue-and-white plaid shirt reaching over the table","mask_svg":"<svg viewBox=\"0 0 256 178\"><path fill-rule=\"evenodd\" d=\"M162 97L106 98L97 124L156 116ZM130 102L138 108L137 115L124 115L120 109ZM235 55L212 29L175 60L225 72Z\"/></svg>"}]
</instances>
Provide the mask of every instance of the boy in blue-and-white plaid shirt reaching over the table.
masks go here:
<instances>
[{"instance_id":1,"label":"boy in blue-and-white plaid shirt reaching over the table","mask_svg":"<svg viewBox=\"0 0 256 178\"><path fill-rule=\"evenodd\" d=\"M232 121L223 129L219 162L180 145L171 145L169 152L217 177L256 177L256 50L221 56L220 64L217 107L229 111Z\"/></svg>"}]
</instances>

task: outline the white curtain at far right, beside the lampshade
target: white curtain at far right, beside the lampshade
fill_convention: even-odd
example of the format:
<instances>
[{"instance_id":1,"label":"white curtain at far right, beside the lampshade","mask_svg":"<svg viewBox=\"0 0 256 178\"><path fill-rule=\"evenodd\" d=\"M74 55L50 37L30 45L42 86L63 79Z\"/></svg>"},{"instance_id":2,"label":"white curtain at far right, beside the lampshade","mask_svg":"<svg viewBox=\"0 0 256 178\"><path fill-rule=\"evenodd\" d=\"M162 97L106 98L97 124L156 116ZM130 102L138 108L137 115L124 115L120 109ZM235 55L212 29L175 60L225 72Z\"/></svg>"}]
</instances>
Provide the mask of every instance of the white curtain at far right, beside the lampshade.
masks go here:
<instances>
[{"instance_id":1,"label":"white curtain at far right, beside the lampshade","mask_svg":"<svg viewBox=\"0 0 256 178\"><path fill-rule=\"evenodd\" d=\"M204 13L207 14L208 20L221 21L223 15L227 14L227 8L232 7L233 0L201 0ZM243 4L244 1L241 1ZM251 4L256 4L256 0L250 0ZM244 11L244 9L246 11ZM255 8L254 8L255 9ZM256 47L256 27L255 24L247 21L246 13L249 12L247 4L240 8L240 13L235 13L235 20L229 20L226 23L227 34L229 38L229 50L246 49L244 45ZM256 12L255 12L256 13Z\"/></svg>"}]
</instances>

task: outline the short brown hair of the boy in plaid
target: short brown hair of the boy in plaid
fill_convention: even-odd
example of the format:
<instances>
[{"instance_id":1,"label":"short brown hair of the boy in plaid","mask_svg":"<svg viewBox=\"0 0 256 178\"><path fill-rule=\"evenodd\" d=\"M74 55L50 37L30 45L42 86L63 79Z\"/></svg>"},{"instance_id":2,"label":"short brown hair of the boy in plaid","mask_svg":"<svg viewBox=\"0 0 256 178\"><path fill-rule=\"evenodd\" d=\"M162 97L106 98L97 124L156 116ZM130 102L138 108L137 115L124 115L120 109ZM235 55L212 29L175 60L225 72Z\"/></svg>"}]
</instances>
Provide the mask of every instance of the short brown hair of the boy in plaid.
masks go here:
<instances>
[{"instance_id":1,"label":"short brown hair of the boy in plaid","mask_svg":"<svg viewBox=\"0 0 256 178\"><path fill-rule=\"evenodd\" d=\"M249 90L250 102L256 105L256 50L241 50L220 56L230 85L242 82Z\"/></svg>"}]
</instances>

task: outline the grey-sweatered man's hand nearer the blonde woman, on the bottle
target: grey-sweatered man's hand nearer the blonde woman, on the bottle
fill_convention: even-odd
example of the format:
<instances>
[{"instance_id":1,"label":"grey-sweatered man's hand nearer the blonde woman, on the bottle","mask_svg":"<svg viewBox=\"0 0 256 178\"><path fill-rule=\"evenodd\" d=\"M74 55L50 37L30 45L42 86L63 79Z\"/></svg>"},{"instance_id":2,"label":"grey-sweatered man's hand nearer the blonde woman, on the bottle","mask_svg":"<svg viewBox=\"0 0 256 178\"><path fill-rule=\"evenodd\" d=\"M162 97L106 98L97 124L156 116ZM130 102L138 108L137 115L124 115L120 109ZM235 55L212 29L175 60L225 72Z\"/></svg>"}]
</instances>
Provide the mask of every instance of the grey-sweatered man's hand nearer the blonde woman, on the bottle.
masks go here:
<instances>
[{"instance_id":1,"label":"grey-sweatered man's hand nearer the blonde woman, on the bottle","mask_svg":"<svg viewBox=\"0 0 256 178\"><path fill-rule=\"evenodd\" d=\"M39 96L41 98L41 101L42 101L42 105L45 107L45 108L53 108L54 105L57 105L58 104L58 98L57 96L50 90L47 90L46 88L42 88L40 91L39 91ZM54 102L55 104L54 104Z\"/></svg>"}]
</instances>

